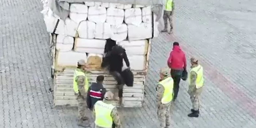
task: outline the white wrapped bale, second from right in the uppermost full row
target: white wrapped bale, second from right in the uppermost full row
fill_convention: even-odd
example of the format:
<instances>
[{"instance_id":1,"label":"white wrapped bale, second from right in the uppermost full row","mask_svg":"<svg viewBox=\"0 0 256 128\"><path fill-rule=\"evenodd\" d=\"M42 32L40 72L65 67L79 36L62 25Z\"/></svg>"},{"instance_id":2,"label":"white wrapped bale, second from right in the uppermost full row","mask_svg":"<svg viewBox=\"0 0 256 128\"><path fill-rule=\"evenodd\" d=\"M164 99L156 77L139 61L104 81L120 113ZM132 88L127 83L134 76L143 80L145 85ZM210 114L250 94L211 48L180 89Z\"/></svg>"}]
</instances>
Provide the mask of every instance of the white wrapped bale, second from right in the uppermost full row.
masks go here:
<instances>
[{"instance_id":1,"label":"white wrapped bale, second from right in the uppermost full row","mask_svg":"<svg viewBox=\"0 0 256 128\"><path fill-rule=\"evenodd\" d=\"M142 11L140 8L130 8L124 11L124 21L127 24L138 26L142 22Z\"/></svg>"}]
</instances>

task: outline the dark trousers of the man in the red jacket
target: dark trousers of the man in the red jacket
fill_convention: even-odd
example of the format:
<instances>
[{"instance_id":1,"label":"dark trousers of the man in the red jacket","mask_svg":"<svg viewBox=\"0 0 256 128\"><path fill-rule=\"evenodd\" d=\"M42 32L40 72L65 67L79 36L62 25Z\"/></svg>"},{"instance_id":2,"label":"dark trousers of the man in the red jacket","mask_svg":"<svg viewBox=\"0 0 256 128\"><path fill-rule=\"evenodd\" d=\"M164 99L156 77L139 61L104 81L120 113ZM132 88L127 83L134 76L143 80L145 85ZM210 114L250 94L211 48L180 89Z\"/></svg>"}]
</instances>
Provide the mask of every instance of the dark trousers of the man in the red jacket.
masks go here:
<instances>
[{"instance_id":1,"label":"dark trousers of the man in the red jacket","mask_svg":"<svg viewBox=\"0 0 256 128\"><path fill-rule=\"evenodd\" d=\"M178 91L179 91L179 88L180 88L180 79L181 79L181 76L182 76L182 71L183 70L174 70L174 69L171 69L171 76L173 78L173 82L174 82L174 85L173 85L173 92L174 92L174 100L177 98L178 96Z\"/></svg>"}]
</instances>

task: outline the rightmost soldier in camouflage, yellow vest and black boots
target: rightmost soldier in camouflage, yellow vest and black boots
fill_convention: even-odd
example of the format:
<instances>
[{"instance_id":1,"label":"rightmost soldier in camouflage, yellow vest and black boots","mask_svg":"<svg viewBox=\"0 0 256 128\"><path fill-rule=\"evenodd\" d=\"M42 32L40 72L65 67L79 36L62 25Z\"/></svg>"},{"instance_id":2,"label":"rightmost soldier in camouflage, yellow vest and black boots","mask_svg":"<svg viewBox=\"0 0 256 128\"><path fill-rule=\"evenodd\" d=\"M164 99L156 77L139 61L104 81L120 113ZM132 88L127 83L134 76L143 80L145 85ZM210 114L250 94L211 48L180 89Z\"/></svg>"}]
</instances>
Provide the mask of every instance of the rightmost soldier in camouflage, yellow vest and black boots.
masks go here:
<instances>
[{"instance_id":1,"label":"rightmost soldier in camouflage, yellow vest and black boots","mask_svg":"<svg viewBox=\"0 0 256 128\"><path fill-rule=\"evenodd\" d=\"M203 90L204 78L203 78L203 67L198 64L198 60L192 57L191 61L191 71L189 74L189 86L188 94L190 96L193 109L191 109L189 117L199 116L199 96Z\"/></svg>"}]
</instances>

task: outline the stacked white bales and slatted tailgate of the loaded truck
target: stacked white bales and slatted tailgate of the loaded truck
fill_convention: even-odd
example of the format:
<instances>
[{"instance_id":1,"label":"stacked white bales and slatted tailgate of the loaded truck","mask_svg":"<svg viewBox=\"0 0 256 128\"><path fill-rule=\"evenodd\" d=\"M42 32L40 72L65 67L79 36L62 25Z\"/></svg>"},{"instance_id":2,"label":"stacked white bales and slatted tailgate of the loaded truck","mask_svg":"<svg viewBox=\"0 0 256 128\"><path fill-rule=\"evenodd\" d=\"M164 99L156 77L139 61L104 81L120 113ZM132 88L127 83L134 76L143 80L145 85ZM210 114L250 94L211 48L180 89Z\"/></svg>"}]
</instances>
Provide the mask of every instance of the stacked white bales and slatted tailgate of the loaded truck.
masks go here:
<instances>
[{"instance_id":1,"label":"stacked white bales and slatted tailgate of the loaded truck","mask_svg":"<svg viewBox=\"0 0 256 128\"><path fill-rule=\"evenodd\" d=\"M100 67L106 39L117 41L127 50L135 81L124 87L125 107L141 107L148 66L150 38L157 37L158 23L151 6L85 2L69 4L69 16L63 20L44 1L46 30L52 36L54 74L54 104L76 106L72 89L73 71L77 61L84 59L93 71L88 75L95 82L97 75L106 77L107 90L116 88L116 81ZM125 64L124 64L125 65Z\"/></svg>"}]
</instances>

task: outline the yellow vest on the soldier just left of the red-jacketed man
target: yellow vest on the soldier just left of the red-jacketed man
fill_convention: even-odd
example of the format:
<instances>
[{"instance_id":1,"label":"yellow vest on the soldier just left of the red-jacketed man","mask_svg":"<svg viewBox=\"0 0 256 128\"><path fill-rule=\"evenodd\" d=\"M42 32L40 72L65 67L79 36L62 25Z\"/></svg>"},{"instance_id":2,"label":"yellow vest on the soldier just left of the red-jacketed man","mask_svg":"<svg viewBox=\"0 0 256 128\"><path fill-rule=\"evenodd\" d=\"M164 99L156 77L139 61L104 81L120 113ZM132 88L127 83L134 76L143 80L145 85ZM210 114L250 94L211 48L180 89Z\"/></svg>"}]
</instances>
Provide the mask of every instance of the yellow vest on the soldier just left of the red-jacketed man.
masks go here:
<instances>
[{"instance_id":1,"label":"yellow vest on the soldier just left of the red-jacketed man","mask_svg":"<svg viewBox=\"0 0 256 128\"><path fill-rule=\"evenodd\" d=\"M172 77L167 77L166 79L162 80L158 84L161 84L164 88L163 98L161 99L161 102L163 104L170 103L173 99L173 79L172 79Z\"/></svg>"}]
</instances>

